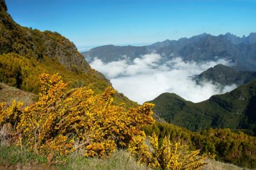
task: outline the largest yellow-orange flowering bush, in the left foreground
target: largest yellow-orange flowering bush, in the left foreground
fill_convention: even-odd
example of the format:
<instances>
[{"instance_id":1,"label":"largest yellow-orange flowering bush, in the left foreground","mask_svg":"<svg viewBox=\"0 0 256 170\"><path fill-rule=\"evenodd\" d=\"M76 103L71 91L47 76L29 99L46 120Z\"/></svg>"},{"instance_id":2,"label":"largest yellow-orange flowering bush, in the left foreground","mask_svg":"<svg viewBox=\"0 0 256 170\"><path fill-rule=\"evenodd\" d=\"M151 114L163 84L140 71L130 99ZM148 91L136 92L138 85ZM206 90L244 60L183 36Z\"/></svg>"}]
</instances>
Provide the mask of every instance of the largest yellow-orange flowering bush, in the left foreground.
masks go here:
<instances>
[{"instance_id":1,"label":"largest yellow-orange flowering bush, in the left foreground","mask_svg":"<svg viewBox=\"0 0 256 170\"><path fill-rule=\"evenodd\" d=\"M23 110L20 103L13 102L7 109L0 105L0 123L15 122L19 144L36 153L60 157L83 150L86 157L108 156L118 147L131 148L135 139L143 141L142 128L154 123L153 104L125 111L112 104L112 88L102 95L94 95L90 87L68 91L61 77L47 74L40 75L40 82L42 92L35 104ZM133 145L146 147L142 142Z\"/></svg>"}]
</instances>

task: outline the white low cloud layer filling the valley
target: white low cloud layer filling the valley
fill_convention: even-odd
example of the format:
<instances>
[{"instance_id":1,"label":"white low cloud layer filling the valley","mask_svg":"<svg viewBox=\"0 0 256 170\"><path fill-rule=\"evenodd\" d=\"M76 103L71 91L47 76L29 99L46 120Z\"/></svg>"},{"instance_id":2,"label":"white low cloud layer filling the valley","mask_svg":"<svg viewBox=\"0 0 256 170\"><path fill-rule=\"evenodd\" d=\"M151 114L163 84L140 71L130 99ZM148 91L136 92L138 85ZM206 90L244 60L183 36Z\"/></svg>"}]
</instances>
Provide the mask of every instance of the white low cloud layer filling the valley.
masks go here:
<instances>
[{"instance_id":1,"label":"white low cloud layer filling the valley","mask_svg":"<svg viewBox=\"0 0 256 170\"><path fill-rule=\"evenodd\" d=\"M191 76L198 75L212 66L230 65L227 60L218 59L202 63L185 62L181 58L165 62L163 60L159 54L152 53L132 61L124 57L120 61L110 63L103 63L95 58L90 65L104 73L115 89L139 104L153 100L164 92L176 93L191 102L201 102L212 95L236 88L234 84L221 90L211 82L198 85L191 79Z\"/></svg>"}]
</instances>

